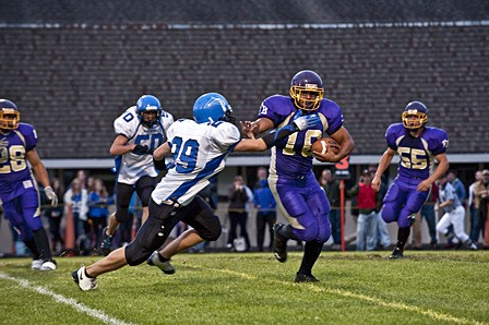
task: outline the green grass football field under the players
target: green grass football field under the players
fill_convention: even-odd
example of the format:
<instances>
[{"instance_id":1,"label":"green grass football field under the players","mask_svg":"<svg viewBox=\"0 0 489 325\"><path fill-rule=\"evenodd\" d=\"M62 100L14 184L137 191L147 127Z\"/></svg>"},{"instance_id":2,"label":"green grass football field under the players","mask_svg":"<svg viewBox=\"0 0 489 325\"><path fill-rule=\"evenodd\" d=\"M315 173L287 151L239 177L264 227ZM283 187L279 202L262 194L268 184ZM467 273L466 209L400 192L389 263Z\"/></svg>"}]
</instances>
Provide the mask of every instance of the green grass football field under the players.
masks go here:
<instances>
[{"instance_id":1,"label":"green grass football field under the players","mask_svg":"<svg viewBox=\"0 0 489 325\"><path fill-rule=\"evenodd\" d=\"M99 257L58 257L58 270L0 260L1 324L489 324L489 251L323 252L318 284L294 284L301 254L175 256L175 275L123 267L82 292L71 278Z\"/></svg>"}]
</instances>

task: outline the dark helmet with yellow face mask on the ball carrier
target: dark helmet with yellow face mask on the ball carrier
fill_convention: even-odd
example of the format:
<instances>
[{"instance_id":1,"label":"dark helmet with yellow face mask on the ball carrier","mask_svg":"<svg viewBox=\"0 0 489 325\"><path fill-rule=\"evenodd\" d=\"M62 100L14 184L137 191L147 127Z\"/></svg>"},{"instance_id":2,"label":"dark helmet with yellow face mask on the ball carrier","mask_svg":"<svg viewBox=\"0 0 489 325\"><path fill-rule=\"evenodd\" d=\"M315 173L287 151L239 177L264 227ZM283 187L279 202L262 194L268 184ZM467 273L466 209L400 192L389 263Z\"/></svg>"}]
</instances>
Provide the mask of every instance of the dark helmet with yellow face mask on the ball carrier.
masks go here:
<instances>
[{"instance_id":1,"label":"dark helmet with yellow face mask on the ball carrier","mask_svg":"<svg viewBox=\"0 0 489 325\"><path fill-rule=\"evenodd\" d=\"M290 82L289 93L297 108L315 110L324 96L323 81L314 71L299 71Z\"/></svg>"}]
</instances>

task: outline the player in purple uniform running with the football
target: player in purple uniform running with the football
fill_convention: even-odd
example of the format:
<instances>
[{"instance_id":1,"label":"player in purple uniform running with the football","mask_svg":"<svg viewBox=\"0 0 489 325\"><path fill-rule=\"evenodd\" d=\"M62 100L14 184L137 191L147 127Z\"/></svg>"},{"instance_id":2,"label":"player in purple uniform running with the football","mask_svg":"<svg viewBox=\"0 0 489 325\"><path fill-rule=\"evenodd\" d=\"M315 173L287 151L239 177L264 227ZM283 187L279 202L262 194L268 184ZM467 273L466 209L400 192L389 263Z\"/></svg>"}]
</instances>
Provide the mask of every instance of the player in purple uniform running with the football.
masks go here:
<instances>
[{"instance_id":1,"label":"player in purple uniform running with the football","mask_svg":"<svg viewBox=\"0 0 489 325\"><path fill-rule=\"evenodd\" d=\"M343 127L342 109L323 97L323 81L315 72L298 72L291 80L289 94L274 95L263 100L258 120L243 122L241 128L251 137L282 128L300 116L318 113L321 118L321 123L315 128L294 133L272 148L269 176L270 189L288 221L288 225L274 226L274 255L278 262L285 262L287 240L306 241L302 263L295 280L310 282L318 281L312 275L312 267L331 236L331 207L312 171L312 158L336 162L347 156L355 144ZM325 133L341 145L336 154L333 151L325 154L311 151L312 143Z\"/></svg>"}]
</instances>

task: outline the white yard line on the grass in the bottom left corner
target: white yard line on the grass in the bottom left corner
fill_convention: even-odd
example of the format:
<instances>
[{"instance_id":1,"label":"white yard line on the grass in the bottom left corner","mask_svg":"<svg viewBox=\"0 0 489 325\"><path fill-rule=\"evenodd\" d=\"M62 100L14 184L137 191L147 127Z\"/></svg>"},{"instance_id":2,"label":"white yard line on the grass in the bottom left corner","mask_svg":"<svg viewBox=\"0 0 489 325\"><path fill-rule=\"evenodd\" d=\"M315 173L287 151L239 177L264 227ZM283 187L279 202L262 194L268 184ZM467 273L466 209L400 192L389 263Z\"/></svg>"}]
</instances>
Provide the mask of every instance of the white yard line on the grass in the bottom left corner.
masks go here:
<instances>
[{"instance_id":1,"label":"white yard line on the grass in the bottom left corner","mask_svg":"<svg viewBox=\"0 0 489 325\"><path fill-rule=\"evenodd\" d=\"M29 281L27 281L26 279L23 278L16 278L16 277L12 277L8 274L1 273L0 272L0 279L5 279L5 280L11 280L16 282L19 286L21 286L22 288L25 288L27 290L40 293L40 294L45 294L48 297L51 297L56 302L59 303L64 303L68 304L69 306L75 309L77 312L80 313L85 313L94 318L99 320L100 322L104 322L105 324L114 324L114 325L126 325L126 324L131 324L131 323L126 323L122 322L120 320L117 320L115 317L111 317L107 314L105 314L102 311L95 310L95 309L91 309L87 308L86 305L84 305L83 303L77 302L76 300L72 299L72 298L67 298L64 296L58 294L56 292L52 292L51 290L45 288L45 287L40 287L40 286L36 286L31 284Z\"/></svg>"}]
</instances>

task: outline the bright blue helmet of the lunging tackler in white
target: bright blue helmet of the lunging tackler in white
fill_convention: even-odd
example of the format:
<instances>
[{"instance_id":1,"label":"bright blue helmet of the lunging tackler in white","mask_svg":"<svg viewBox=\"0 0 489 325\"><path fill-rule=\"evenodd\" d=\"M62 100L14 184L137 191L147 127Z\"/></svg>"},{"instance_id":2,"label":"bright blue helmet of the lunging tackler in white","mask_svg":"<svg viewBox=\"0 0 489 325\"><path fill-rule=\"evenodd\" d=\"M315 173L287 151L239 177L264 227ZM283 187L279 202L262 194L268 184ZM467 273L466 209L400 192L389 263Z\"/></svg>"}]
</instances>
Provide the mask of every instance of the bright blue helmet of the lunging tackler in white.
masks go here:
<instances>
[{"instance_id":1,"label":"bright blue helmet of the lunging tackler in white","mask_svg":"<svg viewBox=\"0 0 489 325\"><path fill-rule=\"evenodd\" d=\"M199 124L217 121L234 123L231 113L232 109L227 99L217 93L204 94L193 104L193 119Z\"/></svg>"}]
</instances>

